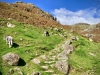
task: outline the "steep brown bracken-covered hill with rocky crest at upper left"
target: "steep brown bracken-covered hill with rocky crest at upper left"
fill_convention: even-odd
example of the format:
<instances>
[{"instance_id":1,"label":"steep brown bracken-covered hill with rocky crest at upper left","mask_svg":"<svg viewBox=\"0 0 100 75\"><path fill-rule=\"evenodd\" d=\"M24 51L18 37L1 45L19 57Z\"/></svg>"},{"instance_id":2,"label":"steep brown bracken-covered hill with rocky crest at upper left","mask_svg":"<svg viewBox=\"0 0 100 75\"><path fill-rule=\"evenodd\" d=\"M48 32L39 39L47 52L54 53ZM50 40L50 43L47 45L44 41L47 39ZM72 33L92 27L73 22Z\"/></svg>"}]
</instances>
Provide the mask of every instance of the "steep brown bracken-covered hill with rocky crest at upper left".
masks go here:
<instances>
[{"instance_id":1,"label":"steep brown bracken-covered hill with rocky crest at upper left","mask_svg":"<svg viewBox=\"0 0 100 75\"><path fill-rule=\"evenodd\" d=\"M0 2L0 16L32 25L60 26L56 18L51 14L39 9L33 4L26 4L23 2L15 2L13 4Z\"/></svg>"}]
</instances>

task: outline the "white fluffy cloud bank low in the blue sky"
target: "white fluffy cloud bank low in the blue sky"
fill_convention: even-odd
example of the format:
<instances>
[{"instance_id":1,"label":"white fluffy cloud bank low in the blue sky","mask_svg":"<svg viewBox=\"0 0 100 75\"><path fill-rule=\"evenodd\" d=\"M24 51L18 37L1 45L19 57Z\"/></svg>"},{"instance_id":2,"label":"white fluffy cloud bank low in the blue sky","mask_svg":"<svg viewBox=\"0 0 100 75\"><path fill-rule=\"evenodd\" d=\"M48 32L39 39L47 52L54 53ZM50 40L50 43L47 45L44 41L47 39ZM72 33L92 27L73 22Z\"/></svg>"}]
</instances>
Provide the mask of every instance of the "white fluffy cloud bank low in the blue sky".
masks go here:
<instances>
[{"instance_id":1,"label":"white fluffy cloud bank low in the blue sky","mask_svg":"<svg viewBox=\"0 0 100 75\"><path fill-rule=\"evenodd\" d=\"M61 24L72 25L75 23L100 23L100 9L89 8L79 11L70 11L65 8L55 9L51 12Z\"/></svg>"}]
</instances>

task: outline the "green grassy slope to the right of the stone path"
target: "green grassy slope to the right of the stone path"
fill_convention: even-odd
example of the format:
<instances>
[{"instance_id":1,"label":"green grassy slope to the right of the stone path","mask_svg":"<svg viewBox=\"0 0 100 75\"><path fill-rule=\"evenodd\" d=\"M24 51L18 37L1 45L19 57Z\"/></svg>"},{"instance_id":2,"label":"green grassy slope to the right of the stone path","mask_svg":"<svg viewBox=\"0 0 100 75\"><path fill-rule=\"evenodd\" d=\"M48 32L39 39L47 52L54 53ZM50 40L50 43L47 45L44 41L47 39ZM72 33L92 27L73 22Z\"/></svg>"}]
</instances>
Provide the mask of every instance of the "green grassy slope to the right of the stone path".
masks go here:
<instances>
[{"instance_id":1,"label":"green grassy slope to the right of the stone path","mask_svg":"<svg viewBox=\"0 0 100 75\"><path fill-rule=\"evenodd\" d=\"M100 44L80 37L73 45L77 48L69 55L69 75L100 75Z\"/></svg>"}]
</instances>

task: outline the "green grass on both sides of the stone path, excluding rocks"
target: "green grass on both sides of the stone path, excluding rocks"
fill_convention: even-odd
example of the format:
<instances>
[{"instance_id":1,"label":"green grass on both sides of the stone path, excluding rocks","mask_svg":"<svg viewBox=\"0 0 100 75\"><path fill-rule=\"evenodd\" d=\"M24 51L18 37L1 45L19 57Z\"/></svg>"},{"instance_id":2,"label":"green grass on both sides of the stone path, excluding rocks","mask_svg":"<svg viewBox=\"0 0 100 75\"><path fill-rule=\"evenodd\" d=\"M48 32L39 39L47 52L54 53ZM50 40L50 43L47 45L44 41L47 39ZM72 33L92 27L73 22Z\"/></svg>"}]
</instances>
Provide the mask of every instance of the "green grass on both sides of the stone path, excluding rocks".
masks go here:
<instances>
[{"instance_id":1,"label":"green grass on both sides of the stone path, excluding rocks","mask_svg":"<svg viewBox=\"0 0 100 75\"><path fill-rule=\"evenodd\" d=\"M20 63L18 67L21 69L24 75L30 75L33 71L39 71L43 75L51 75L51 73L44 72L45 70L43 68L32 63L31 60L43 54L48 55L48 53L53 50L59 43L64 41L64 39L54 34L49 37L44 37L42 35L44 29L27 24L21 24L15 21L10 22L16 26L14 28L8 28L6 26L6 22L7 21L4 20L4 27L0 27L0 71L2 72L2 75L8 73L11 68L13 69L16 67L9 66L2 62L2 55L8 52L17 53L23 59L23 63ZM49 29L47 30L49 32L54 32ZM16 32L17 34L15 34ZM5 41L3 40L5 35L11 35L14 37L15 47L8 48L8 45L6 45ZM22 38L23 41L20 41L20 38ZM19 45L19 47L17 47L17 45ZM86 75L87 73L99 75L100 44L90 42L87 39L79 36L79 41L73 42L73 45L77 47L72 54L69 54L69 64L71 66L69 75ZM26 51L29 52L27 53ZM95 56L90 55L90 53L93 53ZM63 75L55 68L53 70L55 70L55 73ZM14 75L18 75L17 72Z\"/></svg>"}]
</instances>

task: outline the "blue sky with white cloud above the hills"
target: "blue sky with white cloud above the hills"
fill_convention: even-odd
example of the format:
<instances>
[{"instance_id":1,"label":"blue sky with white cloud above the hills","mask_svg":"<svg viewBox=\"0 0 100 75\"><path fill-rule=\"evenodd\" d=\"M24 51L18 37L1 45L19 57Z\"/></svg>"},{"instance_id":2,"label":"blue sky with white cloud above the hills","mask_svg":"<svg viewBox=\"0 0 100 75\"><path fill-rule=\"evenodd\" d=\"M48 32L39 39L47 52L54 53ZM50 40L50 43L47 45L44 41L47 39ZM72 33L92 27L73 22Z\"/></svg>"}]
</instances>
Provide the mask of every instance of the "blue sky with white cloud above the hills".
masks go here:
<instances>
[{"instance_id":1,"label":"blue sky with white cloud above the hills","mask_svg":"<svg viewBox=\"0 0 100 75\"><path fill-rule=\"evenodd\" d=\"M100 0L0 0L14 3L32 3L52 14L63 25L100 23Z\"/></svg>"}]
</instances>

